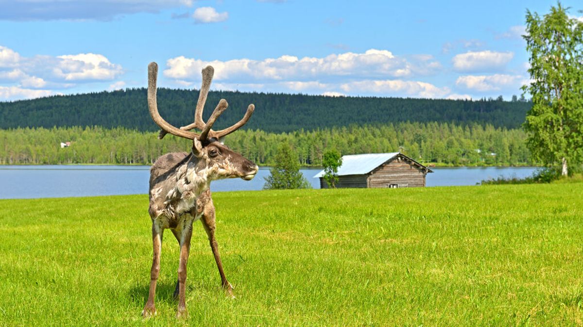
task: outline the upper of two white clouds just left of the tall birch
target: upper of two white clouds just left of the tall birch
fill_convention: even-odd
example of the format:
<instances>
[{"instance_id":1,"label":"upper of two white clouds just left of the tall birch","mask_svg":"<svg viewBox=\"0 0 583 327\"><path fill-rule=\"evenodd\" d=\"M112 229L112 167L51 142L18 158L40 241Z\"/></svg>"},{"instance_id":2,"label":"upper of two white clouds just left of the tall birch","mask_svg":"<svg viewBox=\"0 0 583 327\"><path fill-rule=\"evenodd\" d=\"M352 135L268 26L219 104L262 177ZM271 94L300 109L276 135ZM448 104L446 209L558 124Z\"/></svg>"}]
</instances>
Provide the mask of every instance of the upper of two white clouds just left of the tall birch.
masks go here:
<instances>
[{"instance_id":1,"label":"upper of two white clouds just left of the tall birch","mask_svg":"<svg viewBox=\"0 0 583 327\"><path fill-rule=\"evenodd\" d=\"M483 72L503 69L513 57L512 52L468 51L455 55L452 63L458 72Z\"/></svg>"}]
</instances>

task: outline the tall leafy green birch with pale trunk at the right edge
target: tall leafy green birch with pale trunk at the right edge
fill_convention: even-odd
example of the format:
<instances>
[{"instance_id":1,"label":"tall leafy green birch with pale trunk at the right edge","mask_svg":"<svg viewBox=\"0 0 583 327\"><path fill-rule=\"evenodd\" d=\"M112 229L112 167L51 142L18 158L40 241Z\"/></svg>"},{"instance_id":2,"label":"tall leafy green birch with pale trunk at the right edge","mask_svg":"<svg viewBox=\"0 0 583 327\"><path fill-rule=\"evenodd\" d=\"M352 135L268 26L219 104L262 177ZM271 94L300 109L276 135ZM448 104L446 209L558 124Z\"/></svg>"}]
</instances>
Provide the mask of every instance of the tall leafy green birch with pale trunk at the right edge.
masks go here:
<instances>
[{"instance_id":1,"label":"tall leafy green birch with pale trunk at the right edge","mask_svg":"<svg viewBox=\"0 0 583 327\"><path fill-rule=\"evenodd\" d=\"M583 159L583 23L560 3L550 13L526 13L531 83L523 90L533 105L524 129L533 157L547 165Z\"/></svg>"}]
</instances>

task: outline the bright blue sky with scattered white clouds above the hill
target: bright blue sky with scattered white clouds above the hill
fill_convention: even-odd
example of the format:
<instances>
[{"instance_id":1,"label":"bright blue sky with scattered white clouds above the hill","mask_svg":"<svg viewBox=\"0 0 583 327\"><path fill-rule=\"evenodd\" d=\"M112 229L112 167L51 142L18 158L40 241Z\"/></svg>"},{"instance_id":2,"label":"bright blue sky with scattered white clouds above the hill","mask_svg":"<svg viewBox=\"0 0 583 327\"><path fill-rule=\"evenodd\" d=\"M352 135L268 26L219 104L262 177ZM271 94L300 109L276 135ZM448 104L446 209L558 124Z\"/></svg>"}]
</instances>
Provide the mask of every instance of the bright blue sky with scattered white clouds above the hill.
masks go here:
<instances>
[{"instance_id":1,"label":"bright blue sky with scattered white clouds above the hill","mask_svg":"<svg viewBox=\"0 0 583 327\"><path fill-rule=\"evenodd\" d=\"M583 5L571 6L574 17ZM0 101L159 86L415 98L520 95L526 9L554 1L0 0Z\"/></svg>"}]
</instances>

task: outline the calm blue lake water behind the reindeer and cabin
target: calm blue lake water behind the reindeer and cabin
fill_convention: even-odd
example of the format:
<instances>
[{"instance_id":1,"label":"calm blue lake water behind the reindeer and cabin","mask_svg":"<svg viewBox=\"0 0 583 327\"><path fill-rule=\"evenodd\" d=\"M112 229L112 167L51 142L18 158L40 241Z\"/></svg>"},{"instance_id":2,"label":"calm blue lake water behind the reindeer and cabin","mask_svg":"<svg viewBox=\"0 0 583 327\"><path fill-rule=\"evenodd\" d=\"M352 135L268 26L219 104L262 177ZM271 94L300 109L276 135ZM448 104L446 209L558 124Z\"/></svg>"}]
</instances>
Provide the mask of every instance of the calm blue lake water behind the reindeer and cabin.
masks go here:
<instances>
[{"instance_id":1,"label":"calm blue lake water behind the reindeer and cabin","mask_svg":"<svg viewBox=\"0 0 583 327\"><path fill-rule=\"evenodd\" d=\"M147 194L150 166L0 166L0 198L44 198ZM505 177L526 177L533 167L431 168L427 186L475 185L481 180ZM301 169L319 189L319 180L312 178L320 169ZM269 168L259 168L254 179L216 180L213 191L261 190Z\"/></svg>"}]
</instances>

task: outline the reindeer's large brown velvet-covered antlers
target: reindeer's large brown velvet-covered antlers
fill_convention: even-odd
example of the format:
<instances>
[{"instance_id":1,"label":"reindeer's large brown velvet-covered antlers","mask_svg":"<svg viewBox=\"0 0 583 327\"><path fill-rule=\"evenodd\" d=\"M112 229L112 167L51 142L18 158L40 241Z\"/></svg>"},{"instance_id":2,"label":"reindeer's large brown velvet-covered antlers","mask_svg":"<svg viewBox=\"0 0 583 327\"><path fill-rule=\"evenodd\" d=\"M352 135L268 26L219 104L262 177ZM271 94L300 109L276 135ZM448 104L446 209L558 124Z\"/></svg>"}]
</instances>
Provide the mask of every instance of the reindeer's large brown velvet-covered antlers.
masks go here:
<instances>
[{"instance_id":1,"label":"reindeer's large brown velvet-covered antlers","mask_svg":"<svg viewBox=\"0 0 583 327\"><path fill-rule=\"evenodd\" d=\"M158 138L161 139L166 136L167 133L170 133L175 136L189 138L191 140L198 138L202 141L207 140L210 137L219 138L226 136L247 123L255 110L255 106L252 104L248 106L247 112L245 112L245 116L243 116L243 118L235 125L219 131L214 131L211 129L216 119L219 118L219 116L227 109L227 106L229 106L225 99L220 99L219 104L216 106L215 110L213 111L212 115L210 115L210 118L206 123L202 120L202 111L205 106L206 97L209 94L210 83L213 80L214 73L215 69L213 69L212 66L206 66L205 69L202 70L202 86L201 92L198 95L198 102L196 102L194 123L180 127L180 129L178 129L161 118L160 113L158 112L156 99L156 79L158 75L158 65L155 62L151 62L150 65L148 65L147 102L150 110L150 116L152 116L154 123L160 126L161 129ZM201 130L201 134L196 134L192 131L189 131L193 128L198 128Z\"/></svg>"}]
</instances>

